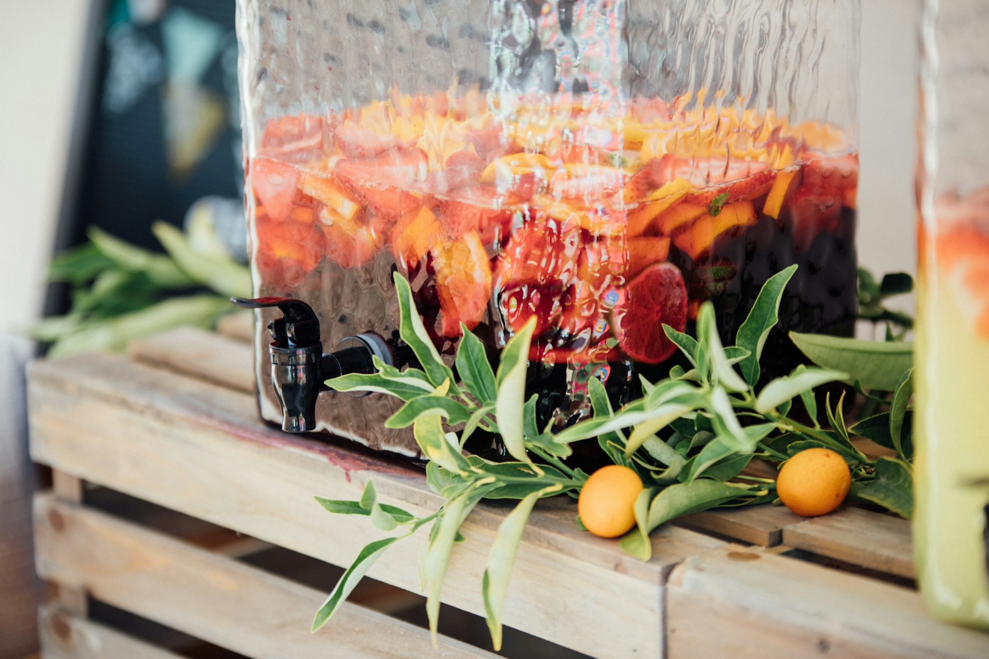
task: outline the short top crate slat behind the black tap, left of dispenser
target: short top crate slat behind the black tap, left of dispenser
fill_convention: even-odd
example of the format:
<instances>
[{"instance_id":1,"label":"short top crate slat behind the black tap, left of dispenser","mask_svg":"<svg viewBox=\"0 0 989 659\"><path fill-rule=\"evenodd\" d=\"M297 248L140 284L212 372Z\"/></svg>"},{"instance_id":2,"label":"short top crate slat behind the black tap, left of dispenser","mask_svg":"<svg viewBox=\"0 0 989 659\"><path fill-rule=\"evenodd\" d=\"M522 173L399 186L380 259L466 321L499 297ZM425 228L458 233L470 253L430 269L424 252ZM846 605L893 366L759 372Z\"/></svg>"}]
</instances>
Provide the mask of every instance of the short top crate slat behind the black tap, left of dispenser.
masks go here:
<instances>
[{"instance_id":1,"label":"short top crate slat behind the black tap, left of dispenser","mask_svg":"<svg viewBox=\"0 0 989 659\"><path fill-rule=\"evenodd\" d=\"M132 341L128 351L138 361L236 391L254 391L254 349L236 338L205 329L178 328Z\"/></svg>"}]
</instances>

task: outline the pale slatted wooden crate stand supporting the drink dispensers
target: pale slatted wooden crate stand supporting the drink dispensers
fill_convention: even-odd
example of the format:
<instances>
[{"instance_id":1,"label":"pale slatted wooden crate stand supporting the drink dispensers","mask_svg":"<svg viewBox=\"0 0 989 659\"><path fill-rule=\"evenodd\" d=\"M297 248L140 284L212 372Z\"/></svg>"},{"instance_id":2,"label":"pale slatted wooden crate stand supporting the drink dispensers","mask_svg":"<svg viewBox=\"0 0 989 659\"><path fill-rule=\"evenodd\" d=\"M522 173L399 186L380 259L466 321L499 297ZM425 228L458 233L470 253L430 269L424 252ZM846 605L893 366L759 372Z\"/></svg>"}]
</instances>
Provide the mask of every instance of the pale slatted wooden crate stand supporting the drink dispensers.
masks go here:
<instances>
[{"instance_id":1,"label":"pale slatted wooden crate stand supporting the drink dispensers","mask_svg":"<svg viewBox=\"0 0 989 659\"><path fill-rule=\"evenodd\" d=\"M422 628L360 603L311 634L326 589L245 562L278 546L346 566L384 536L366 518L325 513L314 495L357 499L373 478L380 501L415 514L441 500L399 459L261 424L242 323L31 369L32 455L55 470L35 513L38 570L59 592L40 612L45 657L175 656L92 619L92 601L249 657L493 656L483 637L441 637L434 650ZM101 510L86 496L97 486L184 525L156 507L143 518ZM484 614L481 575L505 510L482 505L465 523L446 605ZM369 576L417 593L425 534ZM989 656L989 635L925 611L909 534L902 519L854 508L816 519L712 511L654 532L641 562L581 531L572 502L551 500L526 528L504 622L594 657Z\"/></svg>"}]
</instances>

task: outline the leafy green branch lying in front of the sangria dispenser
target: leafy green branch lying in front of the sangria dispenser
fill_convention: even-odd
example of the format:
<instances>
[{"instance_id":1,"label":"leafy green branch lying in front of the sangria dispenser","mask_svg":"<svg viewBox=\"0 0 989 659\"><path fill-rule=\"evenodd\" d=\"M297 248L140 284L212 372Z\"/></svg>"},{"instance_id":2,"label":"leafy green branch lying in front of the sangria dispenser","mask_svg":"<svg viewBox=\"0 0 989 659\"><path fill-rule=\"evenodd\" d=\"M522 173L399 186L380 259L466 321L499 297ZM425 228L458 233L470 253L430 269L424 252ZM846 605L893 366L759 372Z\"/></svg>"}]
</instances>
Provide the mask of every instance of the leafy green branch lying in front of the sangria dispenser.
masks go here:
<instances>
[{"instance_id":1,"label":"leafy green branch lying in front of the sangria dispenser","mask_svg":"<svg viewBox=\"0 0 989 659\"><path fill-rule=\"evenodd\" d=\"M454 362L457 382L415 311L408 282L397 273L400 334L421 368L400 371L376 362L377 373L345 375L326 384L337 391L389 393L405 402L386 424L412 426L419 449L429 460L426 482L444 503L436 513L415 518L378 504L371 482L359 502L318 500L334 513L366 515L382 530L399 526L407 530L360 552L316 614L314 630L336 611L388 546L431 523L419 555L419 574L435 637L446 565L460 539L461 524L484 499L515 499L520 503L498 529L482 580L488 623L499 649L501 613L522 529L539 499L581 490L586 475L568 465L567 458L573 453L571 445L586 439L595 439L612 462L634 469L646 486L635 504L636 526L620 539L626 552L644 560L651 555L650 532L670 519L718 506L771 501L773 482L743 473L753 458L780 462L810 447L827 447L846 459L857 501L909 517L909 370L900 370L889 386L890 373L904 365L903 354L876 349L876 343L889 345L885 342L834 339L839 343L830 343L833 337L795 334L797 345L817 366L800 365L757 391L765 341L778 323L780 300L795 270L790 266L766 281L734 345L722 344L713 306L705 303L698 313L696 336L664 326L688 360L689 370L675 366L667 379L643 380L643 396L618 410L612 409L600 380L591 378L587 395L592 416L563 428L539 427L537 397L525 399L532 320L508 340L496 372L481 340L462 327ZM906 363L909 368L909 357ZM878 402L876 407L889 409L850 428L843 413L845 395L833 406L829 394L824 399L826 426L822 425L815 389L842 381L854 383ZM863 387L889 387L892 398L865 392ZM799 408L793 405L797 399ZM458 424L464 424L459 435L449 429ZM495 463L465 455L465 442L479 428L499 435L513 460ZM856 434L893 448L897 457L870 460L852 440Z\"/></svg>"}]
</instances>

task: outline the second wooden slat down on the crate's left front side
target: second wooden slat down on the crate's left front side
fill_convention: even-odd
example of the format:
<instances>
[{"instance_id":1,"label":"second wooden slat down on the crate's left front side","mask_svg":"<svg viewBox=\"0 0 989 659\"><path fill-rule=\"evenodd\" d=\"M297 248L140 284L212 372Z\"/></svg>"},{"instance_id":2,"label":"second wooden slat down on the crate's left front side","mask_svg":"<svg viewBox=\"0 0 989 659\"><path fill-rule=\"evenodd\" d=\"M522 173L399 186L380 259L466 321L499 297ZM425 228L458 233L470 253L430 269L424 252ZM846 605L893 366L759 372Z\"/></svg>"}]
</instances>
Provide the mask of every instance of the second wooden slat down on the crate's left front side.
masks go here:
<instances>
[{"instance_id":1,"label":"second wooden slat down on the crate's left front side","mask_svg":"<svg viewBox=\"0 0 989 659\"><path fill-rule=\"evenodd\" d=\"M311 634L324 593L50 495L35 508L45 578L249 657L494 657L351 604Z\"/></svg>"}]
</instances>

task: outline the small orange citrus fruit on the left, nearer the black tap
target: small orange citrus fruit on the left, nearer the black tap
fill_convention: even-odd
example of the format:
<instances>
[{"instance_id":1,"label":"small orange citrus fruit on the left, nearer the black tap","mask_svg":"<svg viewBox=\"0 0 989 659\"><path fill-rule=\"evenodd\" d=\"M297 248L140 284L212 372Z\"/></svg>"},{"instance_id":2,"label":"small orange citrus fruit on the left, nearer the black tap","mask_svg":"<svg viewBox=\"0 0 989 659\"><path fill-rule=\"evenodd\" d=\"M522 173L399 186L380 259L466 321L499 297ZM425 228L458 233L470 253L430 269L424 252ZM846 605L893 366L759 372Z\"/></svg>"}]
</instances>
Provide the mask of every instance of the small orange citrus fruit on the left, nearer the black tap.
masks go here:
<instances>
[{"instance_id":1,"label":"small orange citrus fruit on the left, nearer the black tap","mask_svg":"<svg viewBox=\"0 0 989 659\"><path fill-rule=\"evenodd\" d=\"M635 525L635 500L642 479L628 467L609 464L584 483L577 511L588 531L600 537L617 537Z\"/></svg>"}]
</instances>

